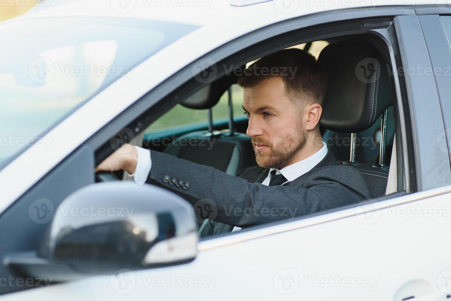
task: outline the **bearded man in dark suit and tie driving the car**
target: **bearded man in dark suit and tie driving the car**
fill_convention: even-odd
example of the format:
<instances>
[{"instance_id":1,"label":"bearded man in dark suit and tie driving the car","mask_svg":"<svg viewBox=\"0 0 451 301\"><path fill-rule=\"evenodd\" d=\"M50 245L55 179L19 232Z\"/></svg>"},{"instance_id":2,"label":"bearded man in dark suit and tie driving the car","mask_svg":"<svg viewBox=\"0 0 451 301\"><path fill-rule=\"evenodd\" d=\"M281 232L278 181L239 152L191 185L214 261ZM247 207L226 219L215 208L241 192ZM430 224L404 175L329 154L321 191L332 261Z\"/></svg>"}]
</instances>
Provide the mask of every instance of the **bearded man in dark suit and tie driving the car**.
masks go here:
<instances>
[{"instance_id":1,"label":"bearded man in dark suit and tie driving the car","mask_svg":"<svg viewBox=\"0 0 451 301\"><path fill-rule=\"evenodd\" d=\"M97 171L124 169L135 182L152 182L206 211L201 236L357 203L369 197L362 175L336 164L319 121L327 77L315 57L285 49L251 64L244 88L247 135L258 166L236 176L171 155L124 145ZM206 216L204 216L206 217Z\"/></svg>"}]
</instances>

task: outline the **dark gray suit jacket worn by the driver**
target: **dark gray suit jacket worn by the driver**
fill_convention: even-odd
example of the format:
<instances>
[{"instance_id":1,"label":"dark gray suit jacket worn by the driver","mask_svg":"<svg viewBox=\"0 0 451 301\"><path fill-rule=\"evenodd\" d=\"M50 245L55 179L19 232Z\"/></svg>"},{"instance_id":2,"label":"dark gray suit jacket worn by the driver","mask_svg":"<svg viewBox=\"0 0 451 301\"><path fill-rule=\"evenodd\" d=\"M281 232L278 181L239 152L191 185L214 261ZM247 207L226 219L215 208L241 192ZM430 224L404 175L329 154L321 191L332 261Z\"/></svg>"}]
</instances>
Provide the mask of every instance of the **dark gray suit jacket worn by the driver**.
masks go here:
<instances>
[{"instance_id":1,"label":"dark gray suit jacket worn by the driver","mask_svg":"<svg viewBox=\"0 0 451 301\"><path fill-rule=\"evenodd\" d=\"M359 171L336 164L330 150L307 173L272 187L261 184L269 169L259 166L243 169L237 176L232 176L153 150L151 158L152 169L147 182L168 188L192 204L196 203L195 207L199 208L195 210L202 210L205 205L212 212L209 219L230 225L215 231L214 223L210 223L211 227L204 224L202 236L231 231L233 226L248 227L295 218L370 197Z\"/></svg>"}]
</instances>

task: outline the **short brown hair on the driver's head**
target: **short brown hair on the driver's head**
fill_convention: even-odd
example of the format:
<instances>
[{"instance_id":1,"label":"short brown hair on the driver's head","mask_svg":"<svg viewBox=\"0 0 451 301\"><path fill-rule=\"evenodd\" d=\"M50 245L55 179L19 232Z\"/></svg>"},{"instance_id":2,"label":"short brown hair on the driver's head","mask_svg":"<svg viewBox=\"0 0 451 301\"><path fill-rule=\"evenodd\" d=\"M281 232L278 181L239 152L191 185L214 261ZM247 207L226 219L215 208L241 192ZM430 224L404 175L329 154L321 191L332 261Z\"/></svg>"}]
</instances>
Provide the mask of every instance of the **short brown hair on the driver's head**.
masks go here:
<instances>
[{"instance_id":1,"label":"short brown hair on the driver's head","mask_svg":"<svg viewBox=\"0 0 451 301\"><path fill-rule=\"evenodd\" d=\"M238 85L250 88L274 76L283 79L285 91L293 101L311 100L321 105L326 97L326 73L313 55L298 48L279 50L263 56L239 76Z\"/></svg>"}]
</instances>

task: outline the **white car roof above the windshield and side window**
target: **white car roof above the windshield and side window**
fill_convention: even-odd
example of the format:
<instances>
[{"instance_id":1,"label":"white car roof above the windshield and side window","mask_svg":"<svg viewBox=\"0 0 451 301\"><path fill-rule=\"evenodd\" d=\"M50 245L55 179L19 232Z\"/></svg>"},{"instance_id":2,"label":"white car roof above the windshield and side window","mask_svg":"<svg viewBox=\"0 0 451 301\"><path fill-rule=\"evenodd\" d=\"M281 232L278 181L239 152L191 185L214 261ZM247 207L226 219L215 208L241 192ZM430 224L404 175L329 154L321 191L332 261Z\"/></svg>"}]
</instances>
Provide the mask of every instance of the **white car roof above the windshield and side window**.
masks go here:
<instances>
[{"instance_id":1,"label":"white car roof above the windshield and side window","mask_svg":"<svg viewBox=\"0 0 451 301\"><path fill-rule=\"evenodd\" d=\"M121 17L161 20L197 26L218 26L238 22L244 28L253 28L252 23L257 21L260 26L264 26L289 18L335 9L437 5L446 4L446 1L266 0L253 5L235 6L230 5L230 2L240 2L240 0L42 0L35 8L18 18ZM122 7L119 6L120 3Z\"/></svg>"}]
</instances>

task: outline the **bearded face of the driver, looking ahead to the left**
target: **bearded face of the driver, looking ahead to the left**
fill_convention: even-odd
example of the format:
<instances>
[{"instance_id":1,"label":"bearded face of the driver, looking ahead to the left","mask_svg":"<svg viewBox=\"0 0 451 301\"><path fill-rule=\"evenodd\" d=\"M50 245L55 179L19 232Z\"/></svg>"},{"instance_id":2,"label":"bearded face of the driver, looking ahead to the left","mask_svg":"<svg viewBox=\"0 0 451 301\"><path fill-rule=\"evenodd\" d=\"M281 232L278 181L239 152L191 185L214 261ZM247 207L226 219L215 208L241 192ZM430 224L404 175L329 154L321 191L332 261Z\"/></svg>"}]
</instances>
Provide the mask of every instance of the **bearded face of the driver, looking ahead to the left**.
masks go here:
<instances>
[{"instance_id":1,"label":"bearded face of the driver, looking ahead to the left","mask_svg":"<svg viewBox=\"0 0 451 301\"><path fill-rule=\"evenodd\" d=\"M306 140L299 105L285 93L280 77L271 77L244 89L243 109L249 118L246 134L252 137L257 164L281 169L288 165Z\"/></svg>"}]
</instances>

